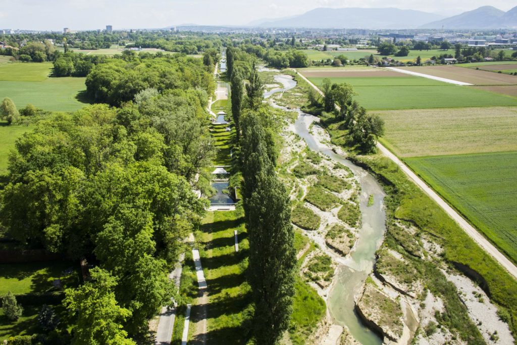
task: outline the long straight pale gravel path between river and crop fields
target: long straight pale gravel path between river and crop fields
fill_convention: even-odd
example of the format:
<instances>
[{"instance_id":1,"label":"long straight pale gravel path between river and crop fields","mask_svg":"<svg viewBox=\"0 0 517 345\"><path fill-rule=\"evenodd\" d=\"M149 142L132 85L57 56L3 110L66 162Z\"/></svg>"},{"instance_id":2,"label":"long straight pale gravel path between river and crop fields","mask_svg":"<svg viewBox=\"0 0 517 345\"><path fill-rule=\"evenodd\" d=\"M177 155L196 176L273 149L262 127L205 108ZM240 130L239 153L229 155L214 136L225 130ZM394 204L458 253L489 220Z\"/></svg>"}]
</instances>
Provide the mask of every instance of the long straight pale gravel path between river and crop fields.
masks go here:
<instances>
[{"instance_id":1,"label":"long straight pale gravel path between river and crop fields","mask_svg":"<svg viewBox=\"0 0 517 345\"><path fill-rule=\"evenodd\" d=\"M296 71L298 76L300 76L303 80L305 80L309 85L311 85L318 93L324 95L323 92L316 87L313 83L309 81L309 79L305 78ZM430 76L432 77L432 76ZM425 184L420 177L418 177L411 169L409 169L406 164L404 164L397 156L391 153L386 147L384 147L381 143L377 143L378 149L389 159L391 159L394 163L396 163L402 171L415 182L422 190L428 194L428 196L433 199L440 207L444 209L444 211L452 218L458 225L469 235L474 241L483 248L492 258L494 258L501 266L506 268L506 270L515 278L517 278L517 266L515 266L507 257L504 256L492 243L490 243L482 234L480 234L472 225L470 225L458 212L456 212L447 202L445 202L438 194L431 189L427 184Z\"/></svg>"}]
</instances>

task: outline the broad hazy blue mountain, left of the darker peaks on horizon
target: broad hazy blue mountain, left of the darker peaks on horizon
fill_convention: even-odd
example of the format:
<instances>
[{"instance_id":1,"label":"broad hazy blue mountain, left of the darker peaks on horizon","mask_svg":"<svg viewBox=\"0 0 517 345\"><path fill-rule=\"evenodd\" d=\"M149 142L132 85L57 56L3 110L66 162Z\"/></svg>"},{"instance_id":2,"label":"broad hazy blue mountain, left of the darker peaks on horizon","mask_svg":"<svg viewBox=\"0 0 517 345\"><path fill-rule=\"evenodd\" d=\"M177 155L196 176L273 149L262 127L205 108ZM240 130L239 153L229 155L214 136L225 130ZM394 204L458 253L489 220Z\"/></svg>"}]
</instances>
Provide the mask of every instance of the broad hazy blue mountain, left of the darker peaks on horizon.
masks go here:
<instances>
[{"instance_id":1,"label":"broad hazy blue mountain, left of the darker peaks on horizon","mask_svg":"<svg viewBox=\"0 0 517 345\"><path fill-rule=\"evenodd\" d=\"M261 27L415 28L442 19L434 13L399 8L316 8L299 16L264 22Z\"/></svg>"}]
</instances>

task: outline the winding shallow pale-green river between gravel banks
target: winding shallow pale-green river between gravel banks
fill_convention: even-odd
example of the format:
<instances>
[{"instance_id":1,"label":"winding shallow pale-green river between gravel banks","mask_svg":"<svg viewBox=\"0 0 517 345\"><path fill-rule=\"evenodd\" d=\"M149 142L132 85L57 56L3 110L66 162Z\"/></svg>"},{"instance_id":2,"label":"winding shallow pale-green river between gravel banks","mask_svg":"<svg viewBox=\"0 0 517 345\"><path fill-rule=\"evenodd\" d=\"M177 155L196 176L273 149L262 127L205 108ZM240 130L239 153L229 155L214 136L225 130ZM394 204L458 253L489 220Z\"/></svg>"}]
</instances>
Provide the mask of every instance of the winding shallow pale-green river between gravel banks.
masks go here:
<instances>
[{"instance_id":1,"label":"winding shallow pale-green river between gravel banks","mask_svg":"<svg viewBox=\"0 0 517 345\"><path fill-rule=\"evenodd\" d=\"M279 76L275 80L285 80ZM293 88L283 84L282 91ZM296 82L294 83L296 85ZM279 107L273 103L273 106ZM287 110L284 107L279 107ZM361 185L361 195L359 197L359 208L362 215L362 228L359 231L359 239L346 257L345 264L340 264L338 274L333 287L327 298L327 307L330 315L336 324L346 326L352 336L365 345L381 344L382 339L373 333L368 327L364 326L355 311L354 297L359 293L364 281L373 270L375 263L375 251L381 246L386 232L386 213L384 208L385 193L381 185L366 170L356 166L345 157L334 153L329 147L320 145L309 131L312 122L318 119L299 109L295 109L298 118L294 124L294 132L298 134L309 146L312 151L320 152L330 157L333 161L339 162L350 168L357 176ZM368 206L369 196L373 195L374 203Z\"/></svg>"}]
</instances>

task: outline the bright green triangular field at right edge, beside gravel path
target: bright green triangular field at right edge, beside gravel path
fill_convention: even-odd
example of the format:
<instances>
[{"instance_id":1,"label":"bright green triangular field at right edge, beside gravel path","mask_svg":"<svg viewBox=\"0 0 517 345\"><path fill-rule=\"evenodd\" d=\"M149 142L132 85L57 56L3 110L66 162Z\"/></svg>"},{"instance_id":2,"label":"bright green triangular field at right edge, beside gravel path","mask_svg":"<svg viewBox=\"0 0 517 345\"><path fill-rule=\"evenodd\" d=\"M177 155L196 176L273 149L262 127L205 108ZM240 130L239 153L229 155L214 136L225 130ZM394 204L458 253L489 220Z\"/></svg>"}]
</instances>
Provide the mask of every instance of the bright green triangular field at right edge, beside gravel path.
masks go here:
<instances>
[{"instance_id":1,"label":"bright green triangular field at right edge, beside gravel path","mask_svg":"<svg viewBox=\"0 0 517 345\"><path fill-rule=\"evenodd\" d=\"M405 161L517 262L517 152Z\"/></svg>"}]
</instances>

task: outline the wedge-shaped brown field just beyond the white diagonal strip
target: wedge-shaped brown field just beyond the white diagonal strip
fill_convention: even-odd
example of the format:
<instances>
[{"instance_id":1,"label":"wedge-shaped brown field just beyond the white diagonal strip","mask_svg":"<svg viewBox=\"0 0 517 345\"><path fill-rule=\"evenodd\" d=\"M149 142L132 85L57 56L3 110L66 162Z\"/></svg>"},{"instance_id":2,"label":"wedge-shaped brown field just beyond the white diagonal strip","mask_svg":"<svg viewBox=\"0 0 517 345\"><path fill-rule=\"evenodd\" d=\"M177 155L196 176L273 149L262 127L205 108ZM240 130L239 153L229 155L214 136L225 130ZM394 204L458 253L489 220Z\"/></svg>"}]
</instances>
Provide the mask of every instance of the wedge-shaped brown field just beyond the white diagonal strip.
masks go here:
<instances>
[{"instance_id":1,"label":"wedge-shaped brown field just beyond the white diagonal strip","mask_svg":"<svg viewBox=\"0 0 517 345\"><path fill-rule=\"evenodd\" d=\"M517 67L517 65L514 66ZM407 71L429 74L430 76L457 80L474 85L517 84L517 76L509 76L508 74L493 73L471 68L459 68L457 66L415 66L397 68Z\"/></svg>"}]
</instances>

